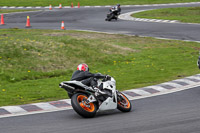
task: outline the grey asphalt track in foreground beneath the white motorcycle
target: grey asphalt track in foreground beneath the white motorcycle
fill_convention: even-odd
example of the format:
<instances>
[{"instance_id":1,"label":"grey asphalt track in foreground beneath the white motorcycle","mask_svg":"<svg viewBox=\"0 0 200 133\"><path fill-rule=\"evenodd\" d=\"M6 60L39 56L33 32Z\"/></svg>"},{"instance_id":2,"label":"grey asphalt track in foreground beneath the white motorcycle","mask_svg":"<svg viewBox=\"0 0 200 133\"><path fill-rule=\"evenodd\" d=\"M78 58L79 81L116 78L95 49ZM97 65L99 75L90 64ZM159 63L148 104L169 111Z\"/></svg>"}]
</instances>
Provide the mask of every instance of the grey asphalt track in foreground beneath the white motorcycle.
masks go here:
<instances>
[{"instance_id":1,"label":"grey asphalt track in foreground beneath the white motorcycle","mask_svg":"<svg viewBox=\"0 0 200 133\"><path fill-rule=\"evenodd\" d=\"M132 101L129 113L73 110L0 119L1 133L199 133L200 87Z\"/></svg>"}]
</instances>

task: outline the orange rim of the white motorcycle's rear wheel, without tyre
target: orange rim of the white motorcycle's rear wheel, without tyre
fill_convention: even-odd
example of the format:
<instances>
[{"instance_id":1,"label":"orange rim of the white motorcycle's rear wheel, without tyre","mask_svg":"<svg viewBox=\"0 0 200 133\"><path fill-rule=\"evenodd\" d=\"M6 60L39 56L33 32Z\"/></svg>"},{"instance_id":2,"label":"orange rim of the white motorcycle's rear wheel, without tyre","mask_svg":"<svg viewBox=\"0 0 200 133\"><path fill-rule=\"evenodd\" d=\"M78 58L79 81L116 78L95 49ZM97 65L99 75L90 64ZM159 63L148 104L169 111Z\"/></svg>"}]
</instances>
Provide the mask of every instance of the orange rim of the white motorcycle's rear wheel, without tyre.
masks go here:
<instances>
[{"instance_id":1,"label":"orange rim of the white motorcycle's rear wheel, without tyre","mask_svg":"<svg viewBox=\"0 0 200 133\"><path fill-rule=\"evenodd\" d=\"M84 95L79 95L77 97L77 101L79 103L79 105L86 111L88 112L93 112L95 110L95 107L94 107L94 104L93 103L89 103L89 104L86 104L86 101L84 101L83 99L87 97L84 96Z\"/></svg>"}]
</instances>

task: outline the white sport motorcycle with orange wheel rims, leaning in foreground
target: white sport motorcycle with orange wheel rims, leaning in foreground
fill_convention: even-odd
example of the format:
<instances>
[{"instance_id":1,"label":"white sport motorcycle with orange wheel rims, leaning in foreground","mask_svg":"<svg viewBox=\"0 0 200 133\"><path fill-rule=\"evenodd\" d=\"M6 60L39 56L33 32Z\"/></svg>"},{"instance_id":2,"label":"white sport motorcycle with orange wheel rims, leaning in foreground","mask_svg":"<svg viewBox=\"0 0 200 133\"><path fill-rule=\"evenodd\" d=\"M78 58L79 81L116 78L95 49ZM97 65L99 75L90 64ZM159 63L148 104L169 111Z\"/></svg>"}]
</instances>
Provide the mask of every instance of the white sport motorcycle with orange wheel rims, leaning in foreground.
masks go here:
<instances>
[{"instance_id":1,"label":"white sport motorcycle with orange wheel rims, leaning in foreground","mask_svg":"<svg viewBox=\"0 0 200 133\"><path fill-rule=\"evenodd\" d=\"M97 112L114 109L122 112L131 111L131 102L122 92L116 90L116 81L113 77L97 79L97 83L97 90L80 81L63 81L59 86L68 92L73 109L82 117L92 118Z\"/></svg>"}]
</instances>

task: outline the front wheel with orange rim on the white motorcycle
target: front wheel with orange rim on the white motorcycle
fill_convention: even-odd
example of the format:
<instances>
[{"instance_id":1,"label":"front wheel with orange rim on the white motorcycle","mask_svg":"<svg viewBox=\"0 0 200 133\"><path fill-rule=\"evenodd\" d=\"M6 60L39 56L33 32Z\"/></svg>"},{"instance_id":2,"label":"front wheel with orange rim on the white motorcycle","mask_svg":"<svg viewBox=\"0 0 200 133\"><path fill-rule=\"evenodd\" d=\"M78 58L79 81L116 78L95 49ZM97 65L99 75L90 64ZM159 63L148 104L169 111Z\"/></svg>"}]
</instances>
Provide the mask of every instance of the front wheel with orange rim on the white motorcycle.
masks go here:
<instances>
[{"instance_id":1,"label":"front wheel with orange rim on the white motorcycle","mask_svg":"<svg viewBox=\"0 0 200 133\"><path fill-rule=\"evenodd\" d=\"M130 100L121 92L117 95L117 109L122 112L131 111L132 105Z\"/></svg>"}]
</instances>

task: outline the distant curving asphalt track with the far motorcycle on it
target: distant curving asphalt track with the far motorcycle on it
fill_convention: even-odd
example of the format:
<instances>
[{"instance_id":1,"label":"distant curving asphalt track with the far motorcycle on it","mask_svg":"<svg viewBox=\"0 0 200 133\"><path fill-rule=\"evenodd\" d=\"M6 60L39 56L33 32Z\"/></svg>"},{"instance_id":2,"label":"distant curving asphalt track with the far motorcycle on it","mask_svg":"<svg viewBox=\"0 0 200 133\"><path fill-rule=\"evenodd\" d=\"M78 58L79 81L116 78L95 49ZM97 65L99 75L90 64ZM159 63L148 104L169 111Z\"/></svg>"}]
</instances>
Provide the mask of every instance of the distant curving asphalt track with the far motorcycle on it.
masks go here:
<instances>
[{"instance_id":1,"label":"distant curving asphalt track with the far motorcycle on it","mask_svg":"<svg viewBox=\"0 0 200 133\"><path fill-rule=\"evenodd\" d=\"M200 6L200 4L122 7L122 13L183 6ZM154 23L126 20L107 22L105 21L105 17L108 9L108 7L47 9L40 12L6 14L4 19L6 25L0 26L0 28L25 28L26 18L29 15L31 28L33 29L60 29L61 21L64 21L66 29L200 41L199 24Z\"/></svg>"}]
</instances>

